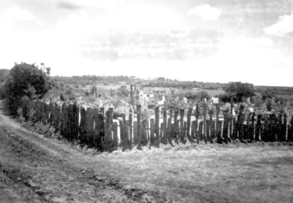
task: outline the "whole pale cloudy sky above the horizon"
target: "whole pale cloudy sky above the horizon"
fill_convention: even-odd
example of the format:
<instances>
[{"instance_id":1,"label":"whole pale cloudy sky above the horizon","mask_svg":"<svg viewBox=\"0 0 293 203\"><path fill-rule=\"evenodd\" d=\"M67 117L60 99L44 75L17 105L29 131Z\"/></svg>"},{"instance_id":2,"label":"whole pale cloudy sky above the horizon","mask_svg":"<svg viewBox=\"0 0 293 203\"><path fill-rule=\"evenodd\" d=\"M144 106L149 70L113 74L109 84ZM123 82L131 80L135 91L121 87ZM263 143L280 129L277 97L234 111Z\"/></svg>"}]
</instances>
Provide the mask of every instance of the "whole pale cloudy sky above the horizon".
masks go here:
<instances>
[{"instance_id":1,"label":"whole pale cloudy sky above the horizon","mask_svg":"<svg viewBox=\"0 0 293 203\"><path fill-rule=\"evenodd\" d=\"M0 68L293 87L293 0L1 0Z\"/></svg>"}]
</instances>

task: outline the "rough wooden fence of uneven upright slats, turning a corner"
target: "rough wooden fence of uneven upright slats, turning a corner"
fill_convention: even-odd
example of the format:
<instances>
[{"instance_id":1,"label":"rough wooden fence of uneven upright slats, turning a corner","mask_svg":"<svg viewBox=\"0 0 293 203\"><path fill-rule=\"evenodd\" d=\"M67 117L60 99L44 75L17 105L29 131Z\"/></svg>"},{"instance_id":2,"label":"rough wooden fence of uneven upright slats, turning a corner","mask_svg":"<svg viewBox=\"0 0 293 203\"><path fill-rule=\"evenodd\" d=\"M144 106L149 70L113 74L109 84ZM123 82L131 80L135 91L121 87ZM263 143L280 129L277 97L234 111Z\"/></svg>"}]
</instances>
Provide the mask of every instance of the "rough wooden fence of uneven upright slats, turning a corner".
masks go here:
<instances>
[{"instance_id":1,"label":"rough wooden fence of uneven upright slats, turning a corner","mask_svg":"<svg viewBox=\"0 0 293 203\"><path fill-rule=\"evenodd\" d=\"M41 101L26 102L22 106L25 120L50 124L69 142L79 142L99 151L111 152L118 147L122 150L142 149L142 146L159 147L160 144L178 144L207 142L226 142L240 139L241 141L293 141L293 116L287 125L285 113L275 114L244 114L244 106L240 107L237 116L223 113L219 118L220 109L207 112L204 104L203 115L200 116L199 105L195 115L192 108L160 113L156 107L154 117L142 118L141 105L137 105L136 115L122 114L122 118L113 119L113 109L106 112L104 108L92 109L78 107L76 104L45 103ZM160 116L161 114L161 116ZM215 115L214 115L215 114Z\"/></svg>"}]
</instances>

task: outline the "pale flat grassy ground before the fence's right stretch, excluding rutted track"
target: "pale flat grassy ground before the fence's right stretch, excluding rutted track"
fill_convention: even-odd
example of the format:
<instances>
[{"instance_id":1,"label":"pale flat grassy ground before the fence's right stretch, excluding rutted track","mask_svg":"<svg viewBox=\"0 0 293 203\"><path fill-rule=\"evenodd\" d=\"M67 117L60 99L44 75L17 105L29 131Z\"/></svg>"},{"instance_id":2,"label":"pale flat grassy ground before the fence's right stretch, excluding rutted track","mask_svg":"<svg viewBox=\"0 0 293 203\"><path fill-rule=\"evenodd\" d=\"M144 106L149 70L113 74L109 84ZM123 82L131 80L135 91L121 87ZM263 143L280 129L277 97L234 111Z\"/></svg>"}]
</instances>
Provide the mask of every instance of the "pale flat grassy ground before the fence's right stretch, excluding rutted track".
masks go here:
<instances>
[{"instance_id":1,"label":"pale flat grassy ground before the fence's right stretch, excluding rutted track","mask_svg":"<svg viewBox=\"0 0 293 203\"><path fill-rule=\"evenodd\" d=\"M115 163L111 174L137 188L162 191L174 202L293 202L292 146L202 144L145 150L96 158Z\"/></svg>"}]
</instances>

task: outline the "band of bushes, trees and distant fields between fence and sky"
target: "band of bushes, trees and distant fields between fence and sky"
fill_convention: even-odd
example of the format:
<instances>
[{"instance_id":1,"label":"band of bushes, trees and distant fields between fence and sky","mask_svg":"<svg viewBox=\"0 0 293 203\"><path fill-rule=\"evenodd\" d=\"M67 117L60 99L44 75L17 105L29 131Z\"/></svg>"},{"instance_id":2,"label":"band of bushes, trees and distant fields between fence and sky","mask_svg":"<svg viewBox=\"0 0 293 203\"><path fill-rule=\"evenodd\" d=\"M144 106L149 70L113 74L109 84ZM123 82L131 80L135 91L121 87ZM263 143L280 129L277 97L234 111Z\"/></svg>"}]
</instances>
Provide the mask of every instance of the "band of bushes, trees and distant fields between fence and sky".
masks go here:
<instances>
[{"instance_id":1,"label":"band of bushes, trees and distant fields between fence and sky","mask_svg":"<svg viewBox=\"0 0 293 203\"><path fill-rule=\"evenodd\" d=\"M42 68L35 67L37 69L42 69L42 74L32 67L31 69L34 69L33 72L35 71L35 73L32 74L22 73L20 70L15 71L20 66L24 69L30 66L35 67L35 65L28 65L25 63L16 65L12 69L12 73L19 71L19 73L13 73L15 79L11 78L13 74L9 74L10 70L0 70L0 84L2 84L2 87L5 84L5 88L0 88L0 96L6 98L7 104L9 104L9 100L13 101L8 106L16 105L16 107L13 108L14 110L11 109L11 114L15 114L15 110L17 110L19 106L17 102L23 96L28 99L45 97L46 99L77 102L81 105L95 107L105 106L105 108L107 108L113 105L114 111L120 109L119 112L127 112L130 107L134 109L135 105L141 102L139 100L139 91L141 90L143 90L144 94L151 95L151 97L145 99L145 107L143 108L153 108L157 106L158 101L162 100L164 94L166 98L164 105L168 109L194 106L197 102L203 102L205 98L209 100L210 97L216 96L219 96L221 106L224 106L224 103L230 102L231 100L233 100L234 103L238 103L244 102L247 98L251 98L254 108L260 112L267 111L266 109L275 109L273 106L277 105L279 105L278 107L280 107L280 105L287 105L290 111L293 109L292 87L253 86L252 84L241 82L229 84L204 83L198 81L172 80L164 77L154 79L141 79L135 76L95 75L49 77L49 72L47 72L47 69L43 66ZM24 71L24 69L22 71ZM21 77L17 77L18 74L21 75ZM42 75L41 78L45 76L46 79L41 80L41 78L33 76L39 74ZM27 75L27 77L23 77L22 75ZM34 79L28 79L31 76L34 77ZM6 80L7 82L5 83L4 81ZM10 83L13 83L13 81L17 81L17 84L11 85ZM49 85L50 88L48 88L48 84L53 84L52 81L54 81L55 85L53 88ZM17 93L14 93L14 91L9 93L10 98L14 96L17 97L15 101L14 99L7 99L10 89L17 89ZM254 92L256 92L256 94ZM184 99L185 97L188 99L187 101ZM266 108L266 104L268 103L270 105L272 100L276 105L272 105L272 108Z\"/></svg>"}]
</instances>

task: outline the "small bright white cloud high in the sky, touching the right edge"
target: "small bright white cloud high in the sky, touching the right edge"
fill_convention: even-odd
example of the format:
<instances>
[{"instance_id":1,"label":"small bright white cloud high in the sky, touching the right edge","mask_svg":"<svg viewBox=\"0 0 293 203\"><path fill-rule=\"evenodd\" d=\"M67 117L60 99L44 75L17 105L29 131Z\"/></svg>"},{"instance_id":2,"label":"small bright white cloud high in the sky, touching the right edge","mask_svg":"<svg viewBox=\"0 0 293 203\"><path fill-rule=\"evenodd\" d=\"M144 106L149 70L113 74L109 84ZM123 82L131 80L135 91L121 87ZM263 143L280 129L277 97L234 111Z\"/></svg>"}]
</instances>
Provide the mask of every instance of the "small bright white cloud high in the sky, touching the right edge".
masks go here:
<instances>
[{"instance_id":1,"label":"small bright white cloud high in the sky, touching the right edge","mask_svg":"<svg viewBox=\"0 0 293 203\"><path fill-rule=\"evenodd\" d=\"M293 32L293 13L288 16L284 15L280 17L278 23L275 23L269 27L265 27L264 31L267 35L284 36L287 33Z\"/></svg>"}]
</instances>

